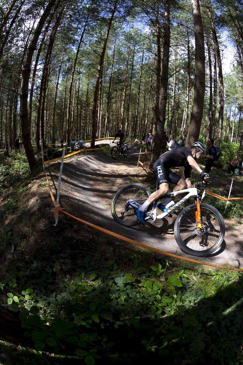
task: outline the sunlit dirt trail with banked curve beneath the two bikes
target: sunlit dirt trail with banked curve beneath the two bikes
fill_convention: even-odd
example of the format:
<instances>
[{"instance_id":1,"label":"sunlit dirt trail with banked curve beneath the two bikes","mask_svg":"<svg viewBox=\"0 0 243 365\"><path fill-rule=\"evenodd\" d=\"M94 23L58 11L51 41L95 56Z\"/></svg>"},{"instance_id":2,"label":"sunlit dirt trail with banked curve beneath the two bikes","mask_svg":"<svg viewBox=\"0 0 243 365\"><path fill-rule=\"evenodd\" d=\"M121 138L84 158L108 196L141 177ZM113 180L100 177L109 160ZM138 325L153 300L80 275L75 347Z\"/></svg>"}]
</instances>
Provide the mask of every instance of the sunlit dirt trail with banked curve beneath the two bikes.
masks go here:
<instances>
[{"instance_id":1,"label":"sunlit dirt trail with banked curve beneath the two bikes","mask_svg":"<svg viewBox=\"0 0 243 365\"><path fill-rule=\"evenodd\" d=\"M98 142L100 143L100 142ZM105 141L102 141L105 143ZM72 210L76 216L97 224L115 233L145 243L148 246L174 253L184 257L184 254L174 238L173 227L176 214L165 221L156 220L146 224L126 228L115 222L111 216L110 204L115 192L125 184L142 183L146 177L144 170L138 166L139 146L128 143L129 155L113 160L110 154L95 153L74 157L63 165L62 193L70 196ZM143 161L144 154L141 160ZM148 166L149 159L144 161ZM130 180L130 181L129 181ZM132 180L132 181L131 181ZM201 261L224 265L226 263L241 268L243 258L243 224L232 227L232 222L226 220L226 235L220 249L208 255ZM191 257L195 258L196 257Z\"/></svg>"}]
</instances>

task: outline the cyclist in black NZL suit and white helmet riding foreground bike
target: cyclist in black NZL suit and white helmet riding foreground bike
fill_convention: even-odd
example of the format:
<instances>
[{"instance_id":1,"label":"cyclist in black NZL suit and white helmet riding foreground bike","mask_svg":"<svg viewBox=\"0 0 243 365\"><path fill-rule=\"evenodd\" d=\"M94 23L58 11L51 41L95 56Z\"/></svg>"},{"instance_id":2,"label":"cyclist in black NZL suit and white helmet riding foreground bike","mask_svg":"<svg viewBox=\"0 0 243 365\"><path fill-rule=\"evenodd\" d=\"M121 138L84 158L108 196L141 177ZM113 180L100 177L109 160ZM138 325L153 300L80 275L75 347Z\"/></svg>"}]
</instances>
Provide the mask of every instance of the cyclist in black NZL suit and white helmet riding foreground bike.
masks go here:
<instances>
[{"instance_id":1,"label":"cyclist in black NZL suit and white helmet riding foreground bike","mask_svg":"<svg viewBox=\"0 0 243 365\"><path fill-rule=\"evenodd\" d=\"M206 147L203 143L196 141L192 143L192 148L188 147L180 147L168 151L162 154L158 160L153 165L154 174L156 175L157 181L160 185L159 189L152 193L149 198L136 209L137 219L145 224L144 221L144 212L148 208L148 206L153 203L153 201L159 199L161 195L167 194L169 191L169 184L176 184L176 187L173 191L180 191L183 189L191 188L192 184L190 181L190 169L191 167L197 170L200 173L202 179L204 181L208 181L209 174L200 169L196 158L200 158L202 155L206 153ZM184 175L185 180L183 180L179 175L174 172L171 172L170 168L184 166ZM166 205L172 201L172 198L167 198L163 201L163 205L160 204L160 209L163 212L166 212Z\"/></svg>"}]
</instances>

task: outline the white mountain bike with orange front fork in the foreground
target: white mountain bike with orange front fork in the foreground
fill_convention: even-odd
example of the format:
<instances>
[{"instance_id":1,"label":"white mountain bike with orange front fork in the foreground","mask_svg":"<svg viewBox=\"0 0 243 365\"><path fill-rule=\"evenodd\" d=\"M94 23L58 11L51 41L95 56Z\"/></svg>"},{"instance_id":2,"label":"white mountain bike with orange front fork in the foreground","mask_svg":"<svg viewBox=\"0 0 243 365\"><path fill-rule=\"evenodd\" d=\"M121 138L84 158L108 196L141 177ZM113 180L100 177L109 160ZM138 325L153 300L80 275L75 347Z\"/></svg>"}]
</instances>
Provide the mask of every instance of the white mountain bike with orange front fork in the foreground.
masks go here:
<instances>
[{"instance_id":1,"label":"white mountain bike with orange front fork in the foreground","mask_svg":"<svg viewBox=\"0 0 243 365\"><path fill-rule=\"evenodd\" d=\"M216 208L201 203L205 196L205 186L194 184L193 188L171 192L162 195L160 199L186 194L178 202L171 201L166 205L166 212L157 215L158 200L149 205L145 211L145 222L154 222L156 219L170 215L176 208L184 204L190 197L194 197L195 204L185 207L177 216L174 226L174 235L180 249L193 256L205 256L213 253L223 242L225 234L224 219ZM156 190L158 189L158 183ZM116 222L125 227L136 226L140 222L135 214L148 199L151 192L141 184L128 184L118 190L111 202L111 214ZM152 210L153 209L153 210Z\"/></svg>"}]
</instances>

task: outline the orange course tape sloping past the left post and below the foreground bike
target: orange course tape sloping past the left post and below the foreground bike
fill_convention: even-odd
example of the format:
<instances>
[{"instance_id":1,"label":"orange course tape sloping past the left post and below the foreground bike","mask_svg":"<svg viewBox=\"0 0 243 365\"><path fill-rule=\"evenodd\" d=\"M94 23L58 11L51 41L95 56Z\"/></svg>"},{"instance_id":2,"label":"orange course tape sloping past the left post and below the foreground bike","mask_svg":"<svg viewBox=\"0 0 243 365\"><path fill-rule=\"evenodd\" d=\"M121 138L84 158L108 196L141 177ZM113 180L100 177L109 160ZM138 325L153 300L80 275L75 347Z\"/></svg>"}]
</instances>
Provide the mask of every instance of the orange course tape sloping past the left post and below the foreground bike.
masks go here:
<instances>
[{"instance_id":1,"label":"orange course tape sloping past the left post and below the foreground bike","mask_svg":"<svg viewBox=\"0 0 243 365\"><path fill-rule=\"evenodd\" d=\"M43 164L43 167L44 167L44 164ZM44 170L45 170L45 172L46 172L45 167L44 167ZM134 241L133 239L130 239L130 238L127 238L127 237L121 236L120 234L117 234L117 233L111 232L111 231L109 231L109 230L106 230L105 228L102 228L102 227L96 226L96 225L95 225L95 224L93 224L93 223L86 222L86 220L83 220L83 219L81 219L81 218L77 218L77 217L75 217L74 215L72 215L72 214L69 214L69 213L65 212L65 211L63 210L63 208L56 207L56 202L55 202L55 199L54 199L53 193L52 193L52 191L51 191L51 186L50 186L49 181L48 181L48 178L47 178L47 173L46 173L46 179L47 179L47 184L48 184L48 188L49 188L49 191L50 191L51 199L52 199L53 204L54 204L54 206L55 206L54 217L56 217L56 212L63 212L64 214L66 214L66 215L70 216L71 218L74 218L74 219L78 220L78 221L79 221L79 222L81 222L81 223L86 224L87 226L90 226L90 227L92 227L92 228L95 228L95 229L97 229L98 231L101 231L101 232L103 232L103 233L109 234L110 236L116 237L116 238L121 239L122 241L125 241L125 242L132 243L133 245L136 245L136 246L142 247L142 248L144 248L144 249L147 249L147 250L150 250L150 251L155 251L155 252L161 253L161 254L166 255L166 256L171 256L171 257L179 258L179 259L181 259L181 260L194 262L194 263L196 263L196 264L207 265L207 266L212 266L212 267L215 267L215 268L221 268L221 269L235 270L235 271L243 272L243 270L242 270L242 269L236 269L236 268L231 268L231 267L226 267L226 266L220 266L220 265L209 264L208 262L201 262L201 261L197 261L197 260L192 260L191 258L187 258L187 257L183 257L183 256L175 255L175 254L172 254L172 253L169 253L169 252L161 251L161 250L155 249L155 248L153 248L153 247L150 247L150 246L144 245L143 243L139 243L139 242L137 242L137 241Z\"/></svg>"}]
</instances>

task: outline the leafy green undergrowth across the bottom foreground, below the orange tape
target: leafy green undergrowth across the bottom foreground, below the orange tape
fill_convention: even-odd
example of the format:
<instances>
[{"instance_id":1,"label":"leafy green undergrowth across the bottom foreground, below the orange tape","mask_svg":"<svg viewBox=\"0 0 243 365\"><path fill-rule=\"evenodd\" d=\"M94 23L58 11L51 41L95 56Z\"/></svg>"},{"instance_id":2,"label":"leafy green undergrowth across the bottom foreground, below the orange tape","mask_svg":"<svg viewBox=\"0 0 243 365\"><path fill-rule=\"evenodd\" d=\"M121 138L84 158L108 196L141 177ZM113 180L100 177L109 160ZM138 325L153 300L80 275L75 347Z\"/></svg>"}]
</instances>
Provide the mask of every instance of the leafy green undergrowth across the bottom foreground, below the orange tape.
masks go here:
<instances>
[{"instance_id":1,"label":"leafy green undergrowth across the bottom foreground, below the orange tape","mask_svg":"<svg viewBox=\"0 0 243 365\"><path fill-rule=\"evenodd\" d=\"M6 274L5 307L19 315L36 358L1 341L3 363L48 364L45 352L86 364L241 362L241 276L188 263L177 271L164 257L149 268L135 259L128 272L100 261L64 253Z\"/></svg>"}]
</instances>

